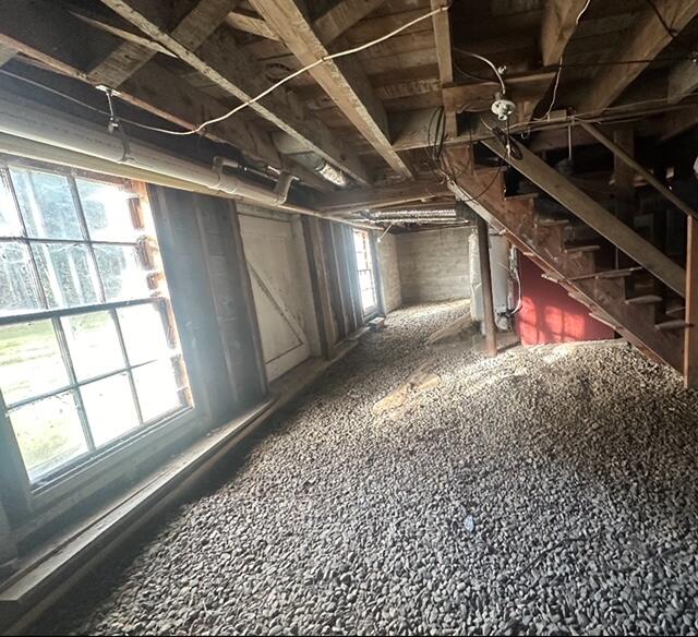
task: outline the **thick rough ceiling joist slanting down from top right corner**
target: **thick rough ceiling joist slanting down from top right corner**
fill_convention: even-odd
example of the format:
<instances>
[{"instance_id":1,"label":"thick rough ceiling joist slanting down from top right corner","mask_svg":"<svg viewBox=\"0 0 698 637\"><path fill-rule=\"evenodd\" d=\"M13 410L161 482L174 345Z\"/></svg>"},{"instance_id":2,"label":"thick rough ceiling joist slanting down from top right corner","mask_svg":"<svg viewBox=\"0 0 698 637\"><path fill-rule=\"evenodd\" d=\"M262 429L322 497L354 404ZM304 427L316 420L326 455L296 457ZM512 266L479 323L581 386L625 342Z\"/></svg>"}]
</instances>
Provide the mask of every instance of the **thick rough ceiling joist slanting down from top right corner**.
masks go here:
<instances>
[{"instance_id":1,"label":"thick rough ceiling joist slanting down from top right corner","mask_svg":"<svg viewBox=\"0 0 698 637\"><path fill-rule=\"evenodd\" d=\"M657 11L670 27L679 33L698 15L698 0L653 0ZM602 111L611 106L627 86L642 72L651 61L672 41L652 9L638 13L625 39L616 47L615 56L619 60L645 60L636 64L602 67L591 81L586 97L577 106L580 113Z\"/></svg>"}]
</instances>

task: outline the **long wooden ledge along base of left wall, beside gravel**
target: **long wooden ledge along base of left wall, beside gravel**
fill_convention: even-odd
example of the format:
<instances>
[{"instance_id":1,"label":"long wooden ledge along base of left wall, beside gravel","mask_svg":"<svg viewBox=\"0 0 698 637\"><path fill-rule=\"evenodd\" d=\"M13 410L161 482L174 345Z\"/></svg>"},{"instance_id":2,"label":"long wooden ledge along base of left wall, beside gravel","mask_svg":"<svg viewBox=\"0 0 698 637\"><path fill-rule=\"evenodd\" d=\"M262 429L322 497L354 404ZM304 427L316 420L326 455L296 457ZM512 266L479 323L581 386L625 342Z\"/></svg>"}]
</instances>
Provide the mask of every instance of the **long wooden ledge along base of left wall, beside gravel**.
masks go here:
<instances>
[{"instance_id":1,"label":"long wooden ledge along base of left wall, beside gravel","mask_svg":"<svg viewBox=\"0 0 698 637\"><path fill-rule=\"evenodd\" d=\"M16 634L31 626L98 561L177 503L218 460L351 351L364 333L339 344L332 360L308 359L284 374L272 384L270 401L208 433L76 528L23 557L20 570L0 585L0 632Z\"/></svg>"}]
</instances>

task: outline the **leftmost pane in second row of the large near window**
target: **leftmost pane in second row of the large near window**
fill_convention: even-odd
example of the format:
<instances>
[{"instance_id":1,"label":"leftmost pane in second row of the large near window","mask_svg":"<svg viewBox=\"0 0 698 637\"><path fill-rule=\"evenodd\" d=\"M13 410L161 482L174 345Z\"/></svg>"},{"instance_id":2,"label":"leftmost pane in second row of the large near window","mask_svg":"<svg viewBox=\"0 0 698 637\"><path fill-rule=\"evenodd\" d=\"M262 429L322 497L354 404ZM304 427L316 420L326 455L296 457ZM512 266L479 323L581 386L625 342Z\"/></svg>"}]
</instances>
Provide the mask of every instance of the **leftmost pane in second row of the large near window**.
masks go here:
<instances>
[{"instance_id":1,"label":"leftmost pane in second row of the large near window","mask_svg":"<svg viewBox=\"0 0 698 637\"><path fill-rule=\"evenodd\" d=\"M10 241L0 242L0 315L20 314L40 308L27 247Z\"/></svg>"}]
</instances>

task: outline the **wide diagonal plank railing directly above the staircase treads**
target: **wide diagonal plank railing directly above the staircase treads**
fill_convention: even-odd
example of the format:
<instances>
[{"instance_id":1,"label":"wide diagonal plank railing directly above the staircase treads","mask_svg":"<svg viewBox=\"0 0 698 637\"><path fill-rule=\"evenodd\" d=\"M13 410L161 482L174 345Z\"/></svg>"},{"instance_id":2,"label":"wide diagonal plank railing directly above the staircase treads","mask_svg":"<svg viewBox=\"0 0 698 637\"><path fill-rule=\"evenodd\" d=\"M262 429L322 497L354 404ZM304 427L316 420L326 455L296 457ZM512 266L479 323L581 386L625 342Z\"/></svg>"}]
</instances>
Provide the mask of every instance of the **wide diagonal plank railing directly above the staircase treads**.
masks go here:
<instances>
[{"instance_id":1,"label":"wide diagonal plank railing directly above the staircase treads","mask_svg":"<svg viewBox=\"0 0 698 637\"><path fill-rule=\"evenodd\" d=\"M686 274L679 265L616 219L540 157L521 144L516 144L520 159L509 155L496 139L486 140L484 144L676 293L685 293Z\"/></svg>"}]
</instances>

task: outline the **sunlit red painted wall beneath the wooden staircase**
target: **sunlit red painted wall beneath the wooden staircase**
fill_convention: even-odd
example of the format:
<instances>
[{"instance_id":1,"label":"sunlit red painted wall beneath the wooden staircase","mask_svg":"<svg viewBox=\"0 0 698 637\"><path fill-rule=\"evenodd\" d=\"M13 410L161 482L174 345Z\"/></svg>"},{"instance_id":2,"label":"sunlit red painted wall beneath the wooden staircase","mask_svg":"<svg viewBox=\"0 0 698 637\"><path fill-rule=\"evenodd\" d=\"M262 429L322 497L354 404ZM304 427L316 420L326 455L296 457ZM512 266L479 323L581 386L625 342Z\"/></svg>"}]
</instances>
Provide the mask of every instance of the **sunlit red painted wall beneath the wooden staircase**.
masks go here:
<instances>
[{"instance_id":1,"label":"sunlit red painted wall beneath the wooden staircase","mask_svg":"<svg viewBox=\"0 0 698 637\"><path fill-rule=\"evenodd\" d=\"M589 316L562 286L542 278L532 261L521 254L519 264L524 298L516 325L521 345L613 338L611 327Z\"/></svg>"}]
</instances>

